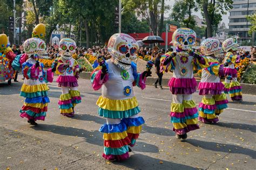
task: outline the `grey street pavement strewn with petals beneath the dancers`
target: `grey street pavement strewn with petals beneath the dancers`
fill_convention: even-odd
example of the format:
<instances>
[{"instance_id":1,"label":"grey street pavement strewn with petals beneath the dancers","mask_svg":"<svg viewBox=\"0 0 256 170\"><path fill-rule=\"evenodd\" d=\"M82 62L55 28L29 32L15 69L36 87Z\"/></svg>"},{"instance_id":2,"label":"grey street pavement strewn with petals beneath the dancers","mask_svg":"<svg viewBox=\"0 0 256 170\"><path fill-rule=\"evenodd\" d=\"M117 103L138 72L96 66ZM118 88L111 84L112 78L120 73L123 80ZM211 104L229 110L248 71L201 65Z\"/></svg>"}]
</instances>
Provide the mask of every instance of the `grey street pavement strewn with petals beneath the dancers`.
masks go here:
<instances>
[{"instance_id":1,"label":"grey street pavement strewn with petals beneath the dancers","mask_svg":"<svg viewBox=\"0 0 256 170\"><path fill-rule=\"evenodd\" d=\"M50 83L48 115L44 122L37 121L38 126L19 117L24 102L21 86L21 79L11 87L0 84L0 169L255 169L253 95L243 95L241 103L230 102L218 124L199 123L199 130L180 141L170 123L169 88L134 87L145 125L130 159L109 162L101 157L103 139L98 131L105 123L95 104L101 91L93 91L89 80L79 79L82 103L73 118L59 114L61 90L56 82ZM200 102L198 92L193 99Z\"/></svg>"}]
</instances>

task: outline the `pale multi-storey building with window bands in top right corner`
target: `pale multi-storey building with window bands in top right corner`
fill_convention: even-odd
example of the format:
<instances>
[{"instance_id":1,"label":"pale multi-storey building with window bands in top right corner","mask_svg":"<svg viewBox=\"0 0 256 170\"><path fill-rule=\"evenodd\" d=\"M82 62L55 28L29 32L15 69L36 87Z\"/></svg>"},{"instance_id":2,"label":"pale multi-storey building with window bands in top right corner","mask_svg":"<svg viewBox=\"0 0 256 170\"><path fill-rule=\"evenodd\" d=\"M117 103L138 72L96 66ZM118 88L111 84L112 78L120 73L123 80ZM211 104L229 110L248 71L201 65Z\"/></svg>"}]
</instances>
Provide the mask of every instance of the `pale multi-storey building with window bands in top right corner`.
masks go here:
<instances>
[{"instance_id":1,"label":"pale multi-storey building with window bands in top right corner","mask_svg":"<svg viewBox=\"0 0 256 170\"><path fill-rule=\"evenodd\" d=\"M246 19L246 16L256 12L256 0L233 0L233 9L231 9L228 19L230 23L229 33L231 36L238 36L238 41L251 41L248 36L249 27L252 25Z\"/></svg>"}]
</instances>

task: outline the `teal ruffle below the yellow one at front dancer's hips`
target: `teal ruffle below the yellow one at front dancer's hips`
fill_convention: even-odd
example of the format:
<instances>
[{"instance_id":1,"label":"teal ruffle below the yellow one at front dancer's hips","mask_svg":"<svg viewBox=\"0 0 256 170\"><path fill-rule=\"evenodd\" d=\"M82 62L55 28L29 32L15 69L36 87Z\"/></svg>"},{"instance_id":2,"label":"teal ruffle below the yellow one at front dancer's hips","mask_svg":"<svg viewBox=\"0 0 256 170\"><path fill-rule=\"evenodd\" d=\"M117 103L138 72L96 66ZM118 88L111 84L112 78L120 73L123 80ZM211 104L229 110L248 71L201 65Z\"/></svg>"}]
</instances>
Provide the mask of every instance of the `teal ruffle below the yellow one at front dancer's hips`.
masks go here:
<instances>
[{"instance_id":1,"label":"teal ruffle below the yellow one at front dancer's hips","mask_svg":"<svg viewBox=\"0 0 256 170\"><path fill-rule=\"evenodd\" d=\"M125 110L125 111L112 111L112 110L98 108L99 116L103 116L111 119L129 118L133 115L137 115L139 112L140 112L139 107L136 107L130 110Z\"/></svg>"}]
</instances>

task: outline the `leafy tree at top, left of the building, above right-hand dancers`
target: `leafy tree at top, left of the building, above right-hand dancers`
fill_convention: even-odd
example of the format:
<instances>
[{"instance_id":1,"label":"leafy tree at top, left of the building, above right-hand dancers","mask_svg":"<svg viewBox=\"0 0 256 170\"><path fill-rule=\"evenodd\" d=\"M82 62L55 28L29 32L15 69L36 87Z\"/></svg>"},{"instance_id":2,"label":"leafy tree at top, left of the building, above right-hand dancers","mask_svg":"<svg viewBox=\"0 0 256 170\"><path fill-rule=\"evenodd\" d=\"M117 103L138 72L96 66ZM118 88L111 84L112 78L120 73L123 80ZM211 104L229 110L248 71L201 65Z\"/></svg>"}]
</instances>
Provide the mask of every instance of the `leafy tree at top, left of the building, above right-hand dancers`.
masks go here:
<instances>
[{"instance_id":1,"label":"leafy tree at top, left of the building, above right-hand dancers","mask_svg":"<svg viewBox=\"0 0 256 170\"><path fill-rule=\"evenodd\" d=\"M218 27L221 16L232 9L232 0L196 0L207 25L207 37L212 37L213 27Z\"/></svg>"}]
</instances>

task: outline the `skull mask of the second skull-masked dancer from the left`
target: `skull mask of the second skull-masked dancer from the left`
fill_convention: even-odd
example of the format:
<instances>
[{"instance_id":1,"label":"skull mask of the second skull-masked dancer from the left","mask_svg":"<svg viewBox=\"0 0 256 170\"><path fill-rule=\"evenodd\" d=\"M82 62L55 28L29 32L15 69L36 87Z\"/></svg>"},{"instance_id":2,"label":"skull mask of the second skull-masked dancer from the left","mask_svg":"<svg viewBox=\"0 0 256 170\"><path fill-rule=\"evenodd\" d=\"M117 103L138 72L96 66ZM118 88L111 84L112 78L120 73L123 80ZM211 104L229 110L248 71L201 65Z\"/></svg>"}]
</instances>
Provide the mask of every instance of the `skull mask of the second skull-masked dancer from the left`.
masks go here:
<instances>
[{"instance_id":1,"label":"skull mask of the second skull-masked dancer from the left","mask_svg":"<svg viewBox=\"0 0 256 170\"><path fill-rule=\"evenodd\" d=\"M76 52L76 42L70 38L63 38L59 41L59 51L66 59L70 59L72 54Z\"/></svg>"}]
</instances>

